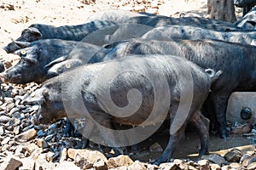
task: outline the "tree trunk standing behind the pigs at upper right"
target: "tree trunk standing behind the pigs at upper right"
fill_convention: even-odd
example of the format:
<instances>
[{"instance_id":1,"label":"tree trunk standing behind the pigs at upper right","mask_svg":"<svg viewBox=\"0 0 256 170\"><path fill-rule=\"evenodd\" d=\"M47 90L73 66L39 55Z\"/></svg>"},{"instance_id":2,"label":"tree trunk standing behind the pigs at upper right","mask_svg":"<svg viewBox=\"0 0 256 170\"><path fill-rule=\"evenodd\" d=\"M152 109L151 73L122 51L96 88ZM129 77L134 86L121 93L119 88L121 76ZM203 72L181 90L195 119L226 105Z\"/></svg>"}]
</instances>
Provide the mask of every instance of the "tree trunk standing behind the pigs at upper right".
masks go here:
<instances>
[{"instance_id":1,"label":"tree trunk standing behind the pigs at upper right","mask_svg":"<svg viewBox=\"0 0 256 170\"><path fill-rule=\"evenodd\" d=\"M207 0L207 18L236 22L234 0Z\"/></svg>"}]
</instances>

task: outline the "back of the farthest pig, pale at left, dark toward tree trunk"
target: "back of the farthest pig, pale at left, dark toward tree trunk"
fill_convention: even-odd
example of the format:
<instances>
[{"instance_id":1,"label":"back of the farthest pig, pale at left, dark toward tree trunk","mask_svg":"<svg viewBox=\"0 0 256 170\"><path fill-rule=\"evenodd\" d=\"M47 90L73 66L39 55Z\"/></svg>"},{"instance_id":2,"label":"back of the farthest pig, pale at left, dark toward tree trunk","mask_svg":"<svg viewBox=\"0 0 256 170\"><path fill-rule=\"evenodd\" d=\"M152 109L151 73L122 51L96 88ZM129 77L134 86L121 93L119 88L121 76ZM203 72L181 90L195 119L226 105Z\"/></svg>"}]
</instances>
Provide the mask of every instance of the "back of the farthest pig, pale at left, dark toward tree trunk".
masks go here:
<instances>
[{"instance_id":1,"label":"back of the farthest pig, pale at left, dark toward tree trunk","mask_svg":"<svg viewBox=\"0 0 256 170\"><path fill-rule=\"evenodd\" d=\"M134 13L120 9L99 11L96 14L92 14L87 21L92 20L110 20L116 24L137 23L154 27L166 25L199 26L201 28L207 28L215 31L240 29L229 22L221 20L212 20L202 17L172 18L164 15L148 14L144 12ZM131 26L131 29L133 28L134 27Z\"/></svg>"}]
</instances>

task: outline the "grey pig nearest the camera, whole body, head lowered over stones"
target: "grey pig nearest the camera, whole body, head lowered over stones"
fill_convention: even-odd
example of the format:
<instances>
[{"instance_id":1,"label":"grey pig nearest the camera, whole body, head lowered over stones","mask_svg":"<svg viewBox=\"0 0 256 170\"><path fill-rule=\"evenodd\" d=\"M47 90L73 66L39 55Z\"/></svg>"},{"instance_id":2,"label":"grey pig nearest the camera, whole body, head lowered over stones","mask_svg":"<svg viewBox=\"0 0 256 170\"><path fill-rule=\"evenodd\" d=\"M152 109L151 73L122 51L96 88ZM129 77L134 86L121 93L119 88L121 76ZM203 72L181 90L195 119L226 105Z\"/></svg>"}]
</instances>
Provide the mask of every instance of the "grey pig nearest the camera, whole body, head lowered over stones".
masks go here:
<instances>
[{"instance_id":1,"label":"grey pig nearest the camera, whole body, head lowered over stones","mask_svg":"<svg viewBox=\"0 0 256 170\"><path fill-rule=\"evenodd\" d=\"M102 77L103 79L101 79ZM106 80L107 77L112 80L110 83ZM164 77L164 79L160 77ZM177 109L181 109L179 114L186 117L183 118L183 122L176 122L179 128L170 136L166 150L155 163L159 164L171 158L176 144L183 139L187 122L192 122L198 128L201 136L200 154L203 155L208 151L209 122L201 115L200 108L210 91L211 82L216 81L218 77L219 71L216 73L209 69L204 71L187 59L168 55L145 57L134 55L130 58L84 65L49 79L44 82L42 88L35 91L35 96L31 101L40 103L41 108L33 116L32 122L35 124L52 123L68 115L69 118L85 117L87 122L96 120L108 128L112 128L112 122L138 126L144 123L151 114L153 106L158 105L159 107L156 106L159 109L157 115L154 115L148 124L144 124L147 127L165 120L168 113L172 122ZM160 80L166 82L159 82ZM160 87L156 85L157 83L160 84ZM156 87L160 89L155 89L155 91L153 88ZM108 99L103 99L108 88L111 90L114 106L109 105ZM128 104L128 91L134 88L142 95L141 105L134 110L134 107L137 106L129 104L131 111L134 111L132 115L113 115L116 114L116 106L125 107ZM158 96L160 98L157 97L157 93L160 93ZM186 96L184 100L182 96ZM154 98L156 99L154 100ZM167 105L162 104L163 99L169 99ZM133 103L132 100L130 102ZM86 110L82 105L86 107ZM184 107L179 107L179 105ZM185 109L186 106L189 106L188 110ZM127 113L123 112L122 114ZM87 122L85 125L90 124ZM94 129L97 126L91 126L91 128ZM85 130L90 131L90 128L86 127ZM171 131L170 127L170 133ZM112 135L112 133L102 133L105 144L119 146L115 143L117 140Z\"/></svg>"}]
</instances>

